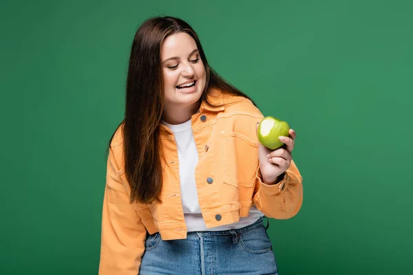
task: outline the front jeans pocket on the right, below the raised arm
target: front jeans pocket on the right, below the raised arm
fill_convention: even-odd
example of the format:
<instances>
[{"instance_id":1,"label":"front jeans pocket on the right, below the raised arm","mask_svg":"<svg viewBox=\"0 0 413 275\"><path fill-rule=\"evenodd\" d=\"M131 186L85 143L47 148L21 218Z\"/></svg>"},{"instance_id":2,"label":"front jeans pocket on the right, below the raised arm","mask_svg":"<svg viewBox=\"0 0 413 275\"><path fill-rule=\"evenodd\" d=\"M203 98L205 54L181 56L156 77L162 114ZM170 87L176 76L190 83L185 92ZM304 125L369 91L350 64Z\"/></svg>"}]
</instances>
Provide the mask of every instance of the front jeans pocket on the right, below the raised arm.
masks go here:
<instances>
[{"instance_id":1,"label":"front jeans pocket on the right, below the raised arm","mask_svg":"<svg viewBox=\"0 0 413 275\"><path fill-rule=\"evenodd\" d=\"M253 230L239 233L242 247L251 253L265 253L272 250L273 245L266 234L264 225Z\"/></svg>"}]
</instances>

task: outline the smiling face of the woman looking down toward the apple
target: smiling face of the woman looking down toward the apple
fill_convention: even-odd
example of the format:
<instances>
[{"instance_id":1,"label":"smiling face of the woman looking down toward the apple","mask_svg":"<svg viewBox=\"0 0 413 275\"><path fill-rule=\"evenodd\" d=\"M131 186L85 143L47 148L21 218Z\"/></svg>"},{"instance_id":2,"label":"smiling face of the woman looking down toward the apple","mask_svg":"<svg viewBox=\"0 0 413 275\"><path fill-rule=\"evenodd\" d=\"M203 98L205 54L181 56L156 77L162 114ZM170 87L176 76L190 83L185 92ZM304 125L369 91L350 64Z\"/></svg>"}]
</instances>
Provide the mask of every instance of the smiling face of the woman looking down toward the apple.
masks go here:
<instances>
[{"instance_id":1,"label":"smiling face of the woman looking down toward the apple","mask_svg":"<svg viewBox=\"0 0 413 275\"><path fill-rule=\"evenodd\" d=\"M195 40L180 32L168 36L160 50L167 107L192 107L204 91L206 73Z\"/></svg>"}]
</instances>

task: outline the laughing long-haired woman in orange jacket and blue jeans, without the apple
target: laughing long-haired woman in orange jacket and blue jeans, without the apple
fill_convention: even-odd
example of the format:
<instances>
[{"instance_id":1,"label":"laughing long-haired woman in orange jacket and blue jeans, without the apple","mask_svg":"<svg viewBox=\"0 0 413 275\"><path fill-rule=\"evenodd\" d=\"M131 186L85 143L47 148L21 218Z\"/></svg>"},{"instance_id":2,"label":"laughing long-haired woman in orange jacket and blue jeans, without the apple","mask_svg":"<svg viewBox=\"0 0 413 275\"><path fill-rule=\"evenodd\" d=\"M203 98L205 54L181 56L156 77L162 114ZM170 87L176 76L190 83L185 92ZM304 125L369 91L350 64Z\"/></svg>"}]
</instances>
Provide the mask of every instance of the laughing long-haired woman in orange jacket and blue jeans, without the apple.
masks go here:
<instances>
[{"instance_id":1,"label":"laughing long-haired woman in orange jacket and blue jeans, without the apple","mask_svg":"<svg viewBox=\"0 0 413 275\"><path fill-rule=\"evenodd\" d=\"M297 214L302 178L295 132L270 151L262 118L187 23L142 23L109 142L99 274L278 274L262 219Z\"/></svg>"}]
</instances>

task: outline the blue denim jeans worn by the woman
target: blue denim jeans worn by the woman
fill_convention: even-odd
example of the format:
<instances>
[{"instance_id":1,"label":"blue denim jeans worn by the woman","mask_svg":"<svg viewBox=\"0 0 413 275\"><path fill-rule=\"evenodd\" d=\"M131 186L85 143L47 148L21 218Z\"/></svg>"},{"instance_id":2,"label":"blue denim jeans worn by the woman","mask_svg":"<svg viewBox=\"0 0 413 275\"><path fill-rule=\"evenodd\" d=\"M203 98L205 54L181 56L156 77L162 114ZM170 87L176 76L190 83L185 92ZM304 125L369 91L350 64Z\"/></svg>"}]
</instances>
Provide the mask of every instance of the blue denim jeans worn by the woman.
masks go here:
<instances>
[{"instance_id":1,"label":"blue denim jeans worn by the woman","mask_svg":"<svg viewBox=\"0 0 413 275\"><path fill-rule=\"evenodd\" d=\"M244 228L188 232L187 239L162 241L147 235L140 273L278 275L263 217Z\"/></svg>"}]
</instances>

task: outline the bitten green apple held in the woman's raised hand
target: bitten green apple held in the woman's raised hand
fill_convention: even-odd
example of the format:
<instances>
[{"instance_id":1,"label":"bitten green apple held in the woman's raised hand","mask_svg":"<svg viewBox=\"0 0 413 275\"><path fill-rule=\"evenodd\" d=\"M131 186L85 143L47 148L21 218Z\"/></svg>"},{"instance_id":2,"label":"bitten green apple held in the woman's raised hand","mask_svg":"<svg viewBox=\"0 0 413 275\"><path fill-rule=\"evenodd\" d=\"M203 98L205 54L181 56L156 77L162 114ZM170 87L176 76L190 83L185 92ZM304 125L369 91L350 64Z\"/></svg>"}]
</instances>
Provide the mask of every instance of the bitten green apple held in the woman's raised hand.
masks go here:
<instances>
[{"instance_id":1,"label":"bitten green apple held in the woman's raised hand","mask_svg":"<svg viewBox=\"0 0 413 275\"><path fill-rule=\"evenodd\" d=\"M279 140L280 136L289 137L290 136L290 126L288 123L278 118L273 118L272 116L267 116L263 118L258 125L258 140L261 144L275 150L284 145L284 142Z\"/></svg>"}]
</instances>

